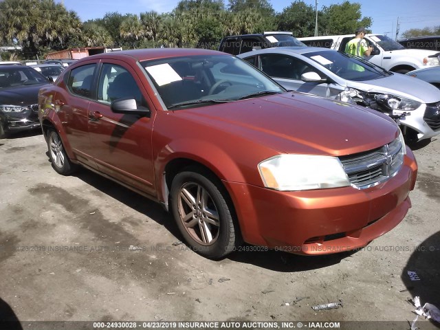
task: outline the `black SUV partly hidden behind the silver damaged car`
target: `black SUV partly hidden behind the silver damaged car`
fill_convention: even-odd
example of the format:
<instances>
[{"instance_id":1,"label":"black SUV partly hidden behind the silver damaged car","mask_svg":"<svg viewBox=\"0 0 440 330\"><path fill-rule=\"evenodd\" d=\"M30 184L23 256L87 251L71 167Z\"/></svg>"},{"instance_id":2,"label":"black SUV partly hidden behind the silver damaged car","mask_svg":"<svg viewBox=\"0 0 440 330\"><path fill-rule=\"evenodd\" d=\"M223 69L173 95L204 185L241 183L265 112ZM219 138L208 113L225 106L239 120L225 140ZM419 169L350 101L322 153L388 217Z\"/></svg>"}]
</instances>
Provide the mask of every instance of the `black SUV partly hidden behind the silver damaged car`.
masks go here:
<instances>
[{"instance_id":1,"label":"black SUV partly hidden behind the silver damaged car","mask_svg":"<svg viewBox=\"0 0 440 330\"><path fill-rule=\"evenodd\" d=\"M305 44L296 39L292 32L264 32L226 36L221 39L219 51L238 55L251 50L285 46L305 46Z\"/></svg>"}]
</instances>

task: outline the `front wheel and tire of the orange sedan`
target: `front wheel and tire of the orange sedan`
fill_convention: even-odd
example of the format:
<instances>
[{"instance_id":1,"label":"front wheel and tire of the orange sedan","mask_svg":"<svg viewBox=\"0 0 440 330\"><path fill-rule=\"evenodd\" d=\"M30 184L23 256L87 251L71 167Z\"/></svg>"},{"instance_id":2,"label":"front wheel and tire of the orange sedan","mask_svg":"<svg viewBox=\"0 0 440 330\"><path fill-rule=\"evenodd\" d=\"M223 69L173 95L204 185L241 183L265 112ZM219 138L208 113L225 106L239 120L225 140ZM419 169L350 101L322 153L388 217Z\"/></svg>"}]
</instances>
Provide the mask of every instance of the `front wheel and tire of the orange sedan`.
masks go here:
<instances>
[{"instance_id":1,"label":"front wheel and tire of the orange sedan","mask_svg":"<svg viewBox=\"0 0 440 330\"><path fill-rule=\"evenodd\" d=\"M175 176L171 184L171 209L184 239L198 254L220 259L232 252L239 236L226 192L219 180L192 170Z\"/></svg>"}]
</instances>

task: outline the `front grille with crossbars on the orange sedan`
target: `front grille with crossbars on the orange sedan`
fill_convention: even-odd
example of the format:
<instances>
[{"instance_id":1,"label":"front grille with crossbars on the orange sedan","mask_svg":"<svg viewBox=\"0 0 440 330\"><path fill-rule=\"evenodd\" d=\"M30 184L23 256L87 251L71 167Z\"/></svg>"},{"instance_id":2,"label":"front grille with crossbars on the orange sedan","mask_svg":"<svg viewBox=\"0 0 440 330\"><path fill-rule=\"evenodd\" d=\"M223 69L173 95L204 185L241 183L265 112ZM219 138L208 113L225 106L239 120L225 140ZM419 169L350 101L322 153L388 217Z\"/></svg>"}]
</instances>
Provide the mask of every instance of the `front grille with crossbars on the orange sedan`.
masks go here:
<instances>
[{"instance_id":1,"label":"front grille with crossbars on the orange sedan","mask_svg":"<svg viewBox=\"0 0 440 330\"><path fill-rule=\"evenodd\" d=\"M399 138L380 148L355 155L339 157L350 183L365 189L397 174L404 162L404 153Z\"/></svg>"}]
</instances>

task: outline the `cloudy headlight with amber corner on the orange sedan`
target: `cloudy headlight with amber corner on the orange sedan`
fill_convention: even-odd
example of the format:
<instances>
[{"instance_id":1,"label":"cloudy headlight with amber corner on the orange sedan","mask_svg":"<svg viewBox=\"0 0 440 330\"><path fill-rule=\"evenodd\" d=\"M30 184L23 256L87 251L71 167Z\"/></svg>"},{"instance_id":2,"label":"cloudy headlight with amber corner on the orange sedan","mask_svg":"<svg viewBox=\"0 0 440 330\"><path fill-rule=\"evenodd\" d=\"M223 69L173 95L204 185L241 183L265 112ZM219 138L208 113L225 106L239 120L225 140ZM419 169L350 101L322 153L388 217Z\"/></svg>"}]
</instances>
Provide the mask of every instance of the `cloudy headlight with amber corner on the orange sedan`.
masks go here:
<instances>
[{"instance_id":1,"label":"cloudy headlight with amber corner on the orange sedan","mask_svg":"<svg viewBox=\"0 0 440 330\"><path fill-rule=\"evenodd\" d=\"M277 155L258 166L266 188L312 190L350 186L338 157Z\"/></svg>"}]
</instances>

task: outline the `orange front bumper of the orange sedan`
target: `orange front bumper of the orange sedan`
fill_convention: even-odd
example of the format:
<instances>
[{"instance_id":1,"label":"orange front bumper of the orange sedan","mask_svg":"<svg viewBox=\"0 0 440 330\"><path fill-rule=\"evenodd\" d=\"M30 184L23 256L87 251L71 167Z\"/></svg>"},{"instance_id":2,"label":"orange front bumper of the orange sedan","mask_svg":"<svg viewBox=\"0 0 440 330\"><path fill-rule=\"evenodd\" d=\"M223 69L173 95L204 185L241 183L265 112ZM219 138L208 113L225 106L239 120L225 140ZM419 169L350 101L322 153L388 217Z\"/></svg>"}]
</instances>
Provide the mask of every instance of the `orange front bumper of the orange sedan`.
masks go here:
<instances>
[{"instance_id":1,"label":"orange front bumper of the orange sedan","mask_svg":"<svg viewBox=\"0 0 440 330\"><path fill-rule=\"evenodd\" d=\"M408 148L399 173L382 184L282 192L225 182L243 239L296 254L331 254L362 248L393 229L411 207L417 163Z\"/></svg>"}]
</instances>

